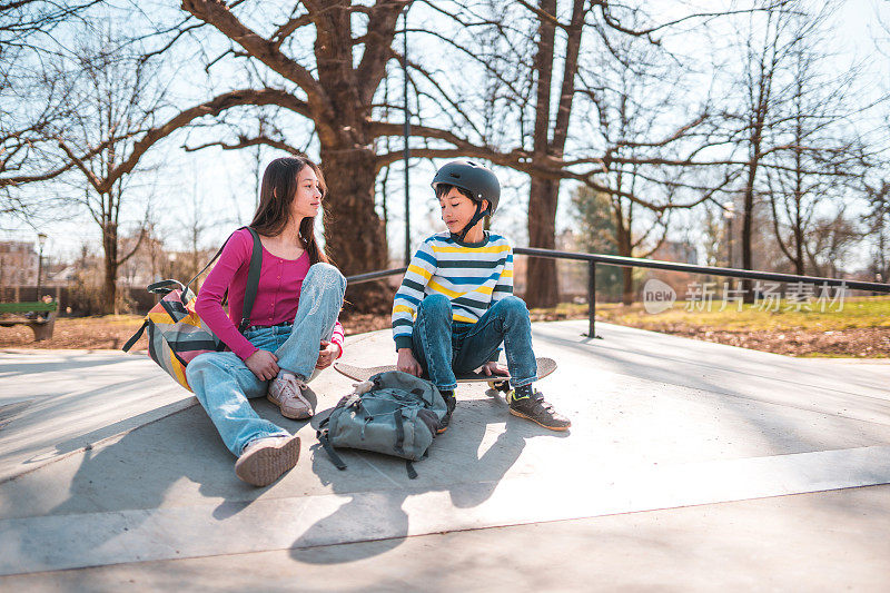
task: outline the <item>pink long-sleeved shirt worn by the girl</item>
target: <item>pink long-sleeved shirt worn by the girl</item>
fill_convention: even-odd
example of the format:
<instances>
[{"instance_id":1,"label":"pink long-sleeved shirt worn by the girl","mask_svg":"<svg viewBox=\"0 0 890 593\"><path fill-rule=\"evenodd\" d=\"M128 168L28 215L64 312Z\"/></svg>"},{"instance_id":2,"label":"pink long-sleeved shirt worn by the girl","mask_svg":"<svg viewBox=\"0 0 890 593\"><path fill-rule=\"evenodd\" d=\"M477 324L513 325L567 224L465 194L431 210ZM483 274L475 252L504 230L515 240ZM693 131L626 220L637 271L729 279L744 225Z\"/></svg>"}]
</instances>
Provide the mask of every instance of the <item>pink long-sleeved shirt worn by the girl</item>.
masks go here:
<instances>
[{"instance_id":1,"label":"pink long-sleeved shirt worn by the girl","mask_svg":"<svg viewBox=\"0 0 890 593\"><path fill-rule=\"evenodd\" d=\"M195 310L207 327L241 360L246 360L258 349L238 332L253 251L254 238L250 231L246 228L236 230L222 249L216 266L207 275L195 302ZM303 279L308 271L309 254L304 253L297 259L284 259L271 255L264 247L259 288L250 312L250 325L278 325L293 322L299 306ZM222 308L222 295L226 294L226 288L229 289L228 315ZM339 322L334 326L330 342L339 346L343 356L343 326Z\"/></svg>"}]
</instances>

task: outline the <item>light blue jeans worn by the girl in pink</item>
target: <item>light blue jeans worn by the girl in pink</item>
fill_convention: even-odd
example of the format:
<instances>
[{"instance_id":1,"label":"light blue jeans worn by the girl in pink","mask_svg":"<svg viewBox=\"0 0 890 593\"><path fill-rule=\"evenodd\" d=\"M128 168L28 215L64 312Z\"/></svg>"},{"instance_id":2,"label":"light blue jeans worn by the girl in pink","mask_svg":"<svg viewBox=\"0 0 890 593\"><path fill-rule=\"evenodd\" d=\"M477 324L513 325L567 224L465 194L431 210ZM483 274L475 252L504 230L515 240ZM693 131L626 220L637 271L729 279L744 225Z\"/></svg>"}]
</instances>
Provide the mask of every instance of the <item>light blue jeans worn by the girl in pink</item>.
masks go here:
<instances>
[{"instance_id":1,"label":"light blue jeans worn by the girl in pink","mask_svg":"<svg viewBox=\"0 0 890 593\"><path fill-rule=\"evenodd\" d=\"M346 278L337 268L316 264L303 280L294 325L248 329L245 337L257 348L274 352L279 368L312 379L319 343L330 339L345 291ZM186 367L186 377L226 447L235 455L240 455L256 438L289 435L250 407L248 399L264 397L268 382L258 379L235 353L196 356Z\"/></svg>"}]
</instances>

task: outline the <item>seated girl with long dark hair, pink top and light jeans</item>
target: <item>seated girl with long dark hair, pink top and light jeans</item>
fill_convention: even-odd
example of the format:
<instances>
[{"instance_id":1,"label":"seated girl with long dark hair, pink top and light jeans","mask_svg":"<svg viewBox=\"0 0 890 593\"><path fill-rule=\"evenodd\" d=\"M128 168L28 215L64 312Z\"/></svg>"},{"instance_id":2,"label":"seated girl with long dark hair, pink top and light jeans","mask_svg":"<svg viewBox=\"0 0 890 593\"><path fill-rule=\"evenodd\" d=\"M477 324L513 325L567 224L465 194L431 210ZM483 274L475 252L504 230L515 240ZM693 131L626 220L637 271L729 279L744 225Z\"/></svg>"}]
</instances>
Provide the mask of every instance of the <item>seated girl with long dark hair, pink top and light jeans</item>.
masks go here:
<instances>
[{"instance_id":1,"label":"seated girl with long dark hair, pink top and light jeans","mask_svg":"<svg viewBox=\"0 0 890 593\"><path fill-rule=\"evenodd\" d=\"M233 234L201 286L195 309L230 352L206 353L186 367L195 395L238 456L235 474L255 486L275 482L299 457L299 437L260 418L248 398L266 396L288 418L313 414L306 383L343 354L346 278L315 239L315 217L326 188L306 158L279 158L263 175L250 227L259 235L263 266L241 334L247 270L254 248L248 229ZM229 313L222 309L228 291ZM319 348L320 345L320 348Z\"/></svg>"}]
</instances>

